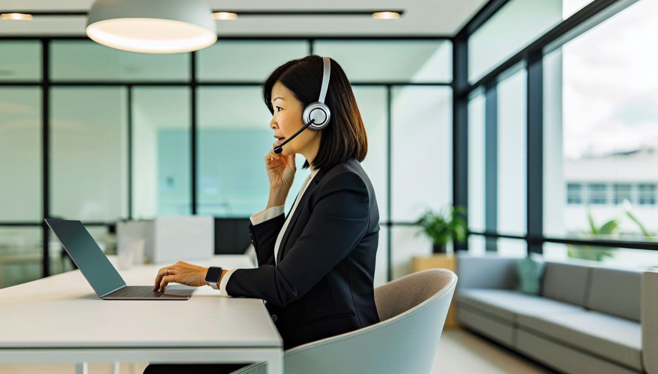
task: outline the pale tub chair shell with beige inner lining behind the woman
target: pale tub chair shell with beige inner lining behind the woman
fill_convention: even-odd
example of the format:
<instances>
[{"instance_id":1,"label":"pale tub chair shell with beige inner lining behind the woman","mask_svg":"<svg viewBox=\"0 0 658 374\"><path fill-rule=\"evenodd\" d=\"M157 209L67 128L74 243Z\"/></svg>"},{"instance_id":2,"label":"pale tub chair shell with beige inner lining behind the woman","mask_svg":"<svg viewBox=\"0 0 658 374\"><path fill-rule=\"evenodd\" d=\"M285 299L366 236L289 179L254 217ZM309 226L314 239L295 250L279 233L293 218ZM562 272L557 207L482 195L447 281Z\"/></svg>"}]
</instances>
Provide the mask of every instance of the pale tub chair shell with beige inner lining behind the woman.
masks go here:
<instances>
[{"instance_id":1,"label":"pale tub chair shell with beige inner lining behind the woman","mask_svg":"<svg viewBox=\"0 0 658 374\"><path fill-rule=\"evenodd\" d=\"M286 374L430 373L455 285L429 269L378 287L380 322L287 350Z\"/></svg>"}]
</instances>

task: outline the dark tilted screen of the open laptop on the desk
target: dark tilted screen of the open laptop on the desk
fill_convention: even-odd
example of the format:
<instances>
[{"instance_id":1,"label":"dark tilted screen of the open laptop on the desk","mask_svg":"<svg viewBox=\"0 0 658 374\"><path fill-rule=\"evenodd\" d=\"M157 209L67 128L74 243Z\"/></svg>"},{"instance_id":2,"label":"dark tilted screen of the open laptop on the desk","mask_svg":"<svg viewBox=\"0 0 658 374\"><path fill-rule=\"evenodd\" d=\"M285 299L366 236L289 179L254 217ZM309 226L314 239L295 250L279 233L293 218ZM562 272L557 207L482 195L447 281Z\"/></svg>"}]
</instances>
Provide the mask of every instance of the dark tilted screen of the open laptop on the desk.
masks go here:
<instances>
[{"instance_id":1,"label":"dark tilted screen of the open laptop on the desk","mask_svg":"<svg viewBox=\"0 0 658 374\"><path fill-rule=\"evenodd\" d=\"M45 220L99 297L126 282L80 221Z\"/></svg>"}]
</instances>

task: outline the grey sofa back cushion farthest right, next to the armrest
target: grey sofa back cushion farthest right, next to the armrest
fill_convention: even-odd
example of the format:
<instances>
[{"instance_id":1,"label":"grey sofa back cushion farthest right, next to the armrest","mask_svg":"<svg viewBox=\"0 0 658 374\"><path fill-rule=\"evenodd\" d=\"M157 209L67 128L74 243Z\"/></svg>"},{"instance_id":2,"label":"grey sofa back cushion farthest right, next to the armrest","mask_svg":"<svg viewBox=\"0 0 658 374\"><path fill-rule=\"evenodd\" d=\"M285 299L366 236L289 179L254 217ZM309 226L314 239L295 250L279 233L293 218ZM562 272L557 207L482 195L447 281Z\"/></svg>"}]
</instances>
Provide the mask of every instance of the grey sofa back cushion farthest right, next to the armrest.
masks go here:
<instances>
[{"instance_id":1,"label":"grey sofa back cushion farthest right, next to the armrest","mask_svg":"<svg viewBox=\"0 0 658 374\"><path fill-rule=\"evenodd\" d=\"M642 271L593 268L587 307L640 321Z\"/></svg>"}]
</instances>

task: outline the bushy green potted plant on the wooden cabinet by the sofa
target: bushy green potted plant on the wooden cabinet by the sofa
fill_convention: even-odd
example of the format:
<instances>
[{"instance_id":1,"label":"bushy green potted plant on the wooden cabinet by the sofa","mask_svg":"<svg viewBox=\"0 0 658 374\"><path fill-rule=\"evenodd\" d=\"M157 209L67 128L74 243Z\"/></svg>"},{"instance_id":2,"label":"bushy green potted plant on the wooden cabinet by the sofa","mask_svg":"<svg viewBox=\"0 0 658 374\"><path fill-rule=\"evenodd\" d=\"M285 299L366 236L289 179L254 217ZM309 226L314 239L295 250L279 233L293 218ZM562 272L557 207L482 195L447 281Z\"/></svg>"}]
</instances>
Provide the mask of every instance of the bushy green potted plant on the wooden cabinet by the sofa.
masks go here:
<instances>
[{"instance_id":1,"label":"bushy green potted plant on the wooden cabinet by the sofa","mask_svg":"<svg viewBox=\"0 0 658 374\"><path fill-rule=\"evenodd\" d=\"M439 212L430 209L418 219L417 225L422 230L416 235L425 233L434 243L434 253L445 253L445 245L449 241L466 241L468 225L465 219L466 209L463 206L445 206Z\"/></svg>"}]
</instances>

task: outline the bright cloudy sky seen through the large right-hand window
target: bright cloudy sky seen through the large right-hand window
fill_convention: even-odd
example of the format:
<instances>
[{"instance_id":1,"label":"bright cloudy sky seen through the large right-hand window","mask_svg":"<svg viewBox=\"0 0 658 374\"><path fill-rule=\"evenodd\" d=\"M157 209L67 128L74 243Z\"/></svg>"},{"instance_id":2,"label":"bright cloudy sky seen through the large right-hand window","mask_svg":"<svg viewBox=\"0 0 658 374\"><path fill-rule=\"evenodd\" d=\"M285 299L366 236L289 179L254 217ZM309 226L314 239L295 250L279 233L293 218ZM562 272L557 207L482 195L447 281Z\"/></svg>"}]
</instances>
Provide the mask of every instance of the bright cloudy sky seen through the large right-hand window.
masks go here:
<instances>
[{"instance_id":1,"label":"bright cloudy sky seen through the large right-hand window","mask_svg":"<svg viewBox=\"0 0 658 374\"><path fill-rule=\"evenodd\" d=\"M640 0L563 46L565 158L658 149L657 35L658 0Z\"/></svg>"}]
</instances>

